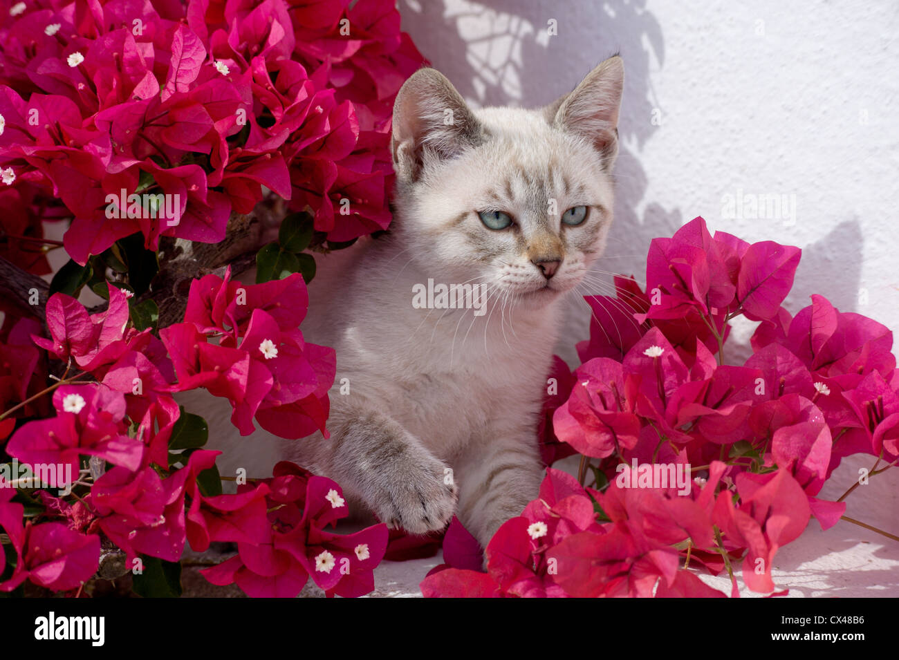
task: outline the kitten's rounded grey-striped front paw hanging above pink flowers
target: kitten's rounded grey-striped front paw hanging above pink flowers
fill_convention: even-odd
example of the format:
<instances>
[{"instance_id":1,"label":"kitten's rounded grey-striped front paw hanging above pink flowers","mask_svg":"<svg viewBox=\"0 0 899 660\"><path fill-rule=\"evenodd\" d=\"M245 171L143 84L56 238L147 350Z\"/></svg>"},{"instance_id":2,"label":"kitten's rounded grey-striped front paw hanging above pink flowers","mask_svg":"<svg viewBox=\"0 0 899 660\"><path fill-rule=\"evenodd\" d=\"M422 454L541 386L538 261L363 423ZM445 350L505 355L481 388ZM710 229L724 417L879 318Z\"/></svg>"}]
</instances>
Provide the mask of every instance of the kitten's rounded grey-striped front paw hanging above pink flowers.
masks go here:
<instances>
[{"instance_id":1,"label":"kitten's rounded grey-striped front paw hanging above pink flowers","mask_svg":"<svg viewBox=\"0 0 899 660\"><path fill-rule=\"evenodd\" d=\"M456 511L458 487L452 471L432 456L396 462L385 475L383 487L375 513L394 529L413 534L439 531Z\"/></svg>"}]
</instances>

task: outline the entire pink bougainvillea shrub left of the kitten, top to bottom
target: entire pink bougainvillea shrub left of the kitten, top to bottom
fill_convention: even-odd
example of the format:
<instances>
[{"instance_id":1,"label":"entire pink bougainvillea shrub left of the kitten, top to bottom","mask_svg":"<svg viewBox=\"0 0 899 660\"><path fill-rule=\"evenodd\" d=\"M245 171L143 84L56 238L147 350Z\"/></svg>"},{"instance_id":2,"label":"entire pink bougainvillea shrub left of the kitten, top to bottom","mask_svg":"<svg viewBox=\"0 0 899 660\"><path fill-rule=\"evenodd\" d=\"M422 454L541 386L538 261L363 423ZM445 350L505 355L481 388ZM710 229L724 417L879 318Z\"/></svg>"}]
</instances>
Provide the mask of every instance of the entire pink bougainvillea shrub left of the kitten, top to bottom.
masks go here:
<instances>
[{"instance_id":1,"label":"entire pink bougainvillea shrub left of the kitten, top to bottom","mask_svg":"<svg viewBox=\"0 0 899 660\"><path fill-rule=\"evenodd\" d=\"M138 594L176 595L185 548L218 541L237 554L203 572L216 585L373 589L385 525L329 531L340 486L289 463L222 494L206 422L174 394L226 398L243 435L328 435L334 350L299 330L310 252L390 222L393 102L423 64L399 22L391 0L4 4L0 257L24 281L49 250L70 260L49 295L0 306L0 592L130 571ZM257 283L200 269L162 323L174 239L225 245L272 199L292 213L254 248Z\"/></svg>"}]
</instances>

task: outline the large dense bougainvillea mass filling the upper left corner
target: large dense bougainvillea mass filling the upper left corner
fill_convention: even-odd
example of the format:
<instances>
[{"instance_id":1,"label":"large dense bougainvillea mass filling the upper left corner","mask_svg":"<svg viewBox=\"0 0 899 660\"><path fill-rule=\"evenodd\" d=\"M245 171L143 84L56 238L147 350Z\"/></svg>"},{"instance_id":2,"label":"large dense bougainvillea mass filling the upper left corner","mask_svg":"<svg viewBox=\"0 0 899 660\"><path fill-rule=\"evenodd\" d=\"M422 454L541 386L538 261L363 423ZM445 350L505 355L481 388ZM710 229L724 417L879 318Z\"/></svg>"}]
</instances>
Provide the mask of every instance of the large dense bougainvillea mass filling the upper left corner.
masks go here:
<instances>
[{"instance_id":1,"label":"large dense bougainvillea mass filling the upper left corner","mask_svg":"<svg viewBox=\"0 0 899 660\"><path fill-rule=\"evenodd\" d=\"M311 207L320 241L386 228L393 100L423 58L393 2L349 4L11 5L0 29L4 229L40 238L41 221L72 218L66 251L85 265L133 233L149 250L160 236L219 242L263 187ZM131 196L156 193L173 203L138 213ZM335 215L341 199L352 213ZM47 272L18 243L6 253Z\"/></svg>"}]
</instances>

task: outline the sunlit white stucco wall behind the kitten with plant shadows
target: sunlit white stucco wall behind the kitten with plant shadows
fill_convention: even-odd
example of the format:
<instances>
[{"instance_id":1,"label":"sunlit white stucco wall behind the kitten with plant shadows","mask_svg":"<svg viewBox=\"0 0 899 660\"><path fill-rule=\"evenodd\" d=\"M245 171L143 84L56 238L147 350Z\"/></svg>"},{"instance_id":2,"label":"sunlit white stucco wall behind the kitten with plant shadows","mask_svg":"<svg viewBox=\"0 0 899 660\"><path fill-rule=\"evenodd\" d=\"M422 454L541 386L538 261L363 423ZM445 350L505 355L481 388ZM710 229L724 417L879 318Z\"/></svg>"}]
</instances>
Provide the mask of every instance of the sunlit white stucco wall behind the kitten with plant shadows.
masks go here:
<instances>
[{"instance_id":1,"label":"sunlit white stucco wall behind the kitten with plant shadows","mask_svg":"<svg viewBox=\"0 0 899 660\"><path fill-rule=\"evenodd\" d=\"M620 51L616 224L599 268L645 281L654 236L711 230L802 248L786 305L828 297L899 330L899 4L399 0L403 27L476 106L536 107ZM556 36L547 34L556 21ZM725 195L786 196L725 217ZM795 202L795 213L790 207ZM586 336L586 307L560 352ZM734 334L745 340L751 331ZM735 357L735 356L734 356Z\"/></svg>"}]
</instances>

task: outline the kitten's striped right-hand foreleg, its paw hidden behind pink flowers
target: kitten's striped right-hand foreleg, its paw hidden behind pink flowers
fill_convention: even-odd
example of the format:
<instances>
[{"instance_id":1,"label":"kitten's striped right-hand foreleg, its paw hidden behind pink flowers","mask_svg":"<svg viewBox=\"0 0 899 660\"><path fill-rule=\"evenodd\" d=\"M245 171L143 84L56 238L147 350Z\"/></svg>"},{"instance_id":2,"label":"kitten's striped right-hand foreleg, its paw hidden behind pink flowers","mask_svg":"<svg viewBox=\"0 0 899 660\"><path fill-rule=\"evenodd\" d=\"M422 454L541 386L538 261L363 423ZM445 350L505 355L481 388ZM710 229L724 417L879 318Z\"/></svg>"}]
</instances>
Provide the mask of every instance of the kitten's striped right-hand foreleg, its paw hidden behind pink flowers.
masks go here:
<instances>
[{"instance_id":1,"label":"kitten's striped right-hand foreleg, its paw hidden behind pink flowers","mask_svg":"<svg viewBox=\"0 0 899 660\"><path fill-rule=\"evenodd\" d=\"M545 471L532 427L479 438L456 465L458 519L482 548L505 521L521 515L538 496Z\"/></svg>"}]
</instances>

